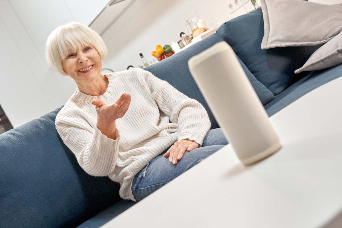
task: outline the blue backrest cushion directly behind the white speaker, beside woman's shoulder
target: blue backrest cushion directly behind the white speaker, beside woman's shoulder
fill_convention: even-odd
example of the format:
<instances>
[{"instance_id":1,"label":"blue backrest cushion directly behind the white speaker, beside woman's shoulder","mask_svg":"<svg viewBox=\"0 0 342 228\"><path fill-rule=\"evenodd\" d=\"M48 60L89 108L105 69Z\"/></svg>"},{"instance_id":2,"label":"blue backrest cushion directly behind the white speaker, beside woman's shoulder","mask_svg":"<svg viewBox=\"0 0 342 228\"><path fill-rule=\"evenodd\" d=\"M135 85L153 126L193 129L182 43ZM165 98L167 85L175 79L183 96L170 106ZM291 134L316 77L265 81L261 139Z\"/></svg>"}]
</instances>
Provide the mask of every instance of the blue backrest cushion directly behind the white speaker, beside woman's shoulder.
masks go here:
<instances>
[{"instance_id":1,"label":"blue backrest cushion directly behind the white speaker, beside woman's shoulder","mask_svg":"<svg viewBox=\"0 0 342 228\"><path fill-rule=\"evenodd\" d=\"M220 36L216 33L210 35L204 40L201 40L192 46L189 46L187 49L172 55L163 61L160 61L156 64L153 64L149 67L144 68L151 73L153 73L156 77L161 80L165 80L169 82L174 88L184 93L190 98L196 99L199 103L201 103L208 112L210 121L211 121L211 129L219 128L218 123L216 122L213 114L211 113L203 95L199 91L195 80L193 79L189 68L188 68L188 60L202 51L210 48L215 43L223 41ZM257 92L259 99L265 105L271 100L273 100L274 96L264 85L262 85L255 77L249 72L247 67L240 61L242 68L245 70L246 75L248 76L251 84L253 85L254 90ZM210 76L208 76L210 77Z\"/></svg>"}]
</instances>

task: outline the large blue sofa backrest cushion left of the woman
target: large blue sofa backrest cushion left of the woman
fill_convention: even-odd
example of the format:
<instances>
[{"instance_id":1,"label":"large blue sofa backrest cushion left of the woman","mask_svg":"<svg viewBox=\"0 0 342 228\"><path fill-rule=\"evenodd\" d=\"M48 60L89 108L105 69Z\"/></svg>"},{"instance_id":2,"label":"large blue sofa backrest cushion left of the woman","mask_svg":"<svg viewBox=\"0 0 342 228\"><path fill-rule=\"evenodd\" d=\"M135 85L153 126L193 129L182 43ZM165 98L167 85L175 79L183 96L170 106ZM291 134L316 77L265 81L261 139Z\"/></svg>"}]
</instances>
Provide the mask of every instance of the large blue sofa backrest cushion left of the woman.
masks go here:
<instances>
[{"instance_id":1,"label":"large blue sofa backrest cushion left of the woman","mask_svg":"<svg viewBox=\"0 0 342 228\"><path fill-rule=\"evenodd\" d=\"M84 172L64 145L60 109L0 135L0 227L76 227L120 199L118 183Z\"/></svg>"}]
</instances>

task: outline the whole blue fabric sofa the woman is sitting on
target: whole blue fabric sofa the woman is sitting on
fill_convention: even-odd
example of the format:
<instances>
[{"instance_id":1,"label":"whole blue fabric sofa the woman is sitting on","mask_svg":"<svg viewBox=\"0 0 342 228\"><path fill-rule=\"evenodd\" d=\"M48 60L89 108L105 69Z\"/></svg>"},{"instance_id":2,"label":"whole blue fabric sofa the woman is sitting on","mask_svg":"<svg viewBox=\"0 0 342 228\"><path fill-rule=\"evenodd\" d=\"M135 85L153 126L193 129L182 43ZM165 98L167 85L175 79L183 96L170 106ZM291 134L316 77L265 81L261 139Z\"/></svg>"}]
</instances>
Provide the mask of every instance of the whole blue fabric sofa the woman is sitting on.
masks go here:
<instances>
[{"instance_id":1,"label":"whole blue fabric sofa the woman is sitting on","mask_svg":"<svg viewBox=\"0 0 342 228\"><path fill-rule=\"evenodd\" d=\"M261 50L262 37L262 12L257 9L145 69L203 104L212 129L219 126L187 61L217 42L232 46L269 116L342 75L342 65L295 75L317 47ZM56 132L60 109L0 135L0 227L100 227L135 204L120 199L118 183L80 168Z\"/></svg>"}]
</instances>

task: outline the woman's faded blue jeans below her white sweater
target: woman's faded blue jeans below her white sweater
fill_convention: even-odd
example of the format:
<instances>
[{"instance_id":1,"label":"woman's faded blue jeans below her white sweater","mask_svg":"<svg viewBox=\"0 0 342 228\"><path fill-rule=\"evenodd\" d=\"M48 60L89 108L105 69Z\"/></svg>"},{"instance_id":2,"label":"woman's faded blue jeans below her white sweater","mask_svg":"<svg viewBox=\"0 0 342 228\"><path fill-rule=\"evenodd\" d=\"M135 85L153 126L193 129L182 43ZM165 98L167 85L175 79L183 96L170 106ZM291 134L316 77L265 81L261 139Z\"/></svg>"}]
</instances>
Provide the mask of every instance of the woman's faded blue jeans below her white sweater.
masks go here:
<instances>
[{"instance_id":1,"label":"woman's faded blue jeans below her white sweater","mask_svg":"<svg viewBox=\"0 0 342 228\"><path fill-rule=\"evenodd\" d=\"M209 130L202 147L185 152L177 164L172 164L169 158L163 157L170 146L135 175L132 183L134 198L137 201L144 199L227 144L221 128Z\"/></svg>"}]
</instances>

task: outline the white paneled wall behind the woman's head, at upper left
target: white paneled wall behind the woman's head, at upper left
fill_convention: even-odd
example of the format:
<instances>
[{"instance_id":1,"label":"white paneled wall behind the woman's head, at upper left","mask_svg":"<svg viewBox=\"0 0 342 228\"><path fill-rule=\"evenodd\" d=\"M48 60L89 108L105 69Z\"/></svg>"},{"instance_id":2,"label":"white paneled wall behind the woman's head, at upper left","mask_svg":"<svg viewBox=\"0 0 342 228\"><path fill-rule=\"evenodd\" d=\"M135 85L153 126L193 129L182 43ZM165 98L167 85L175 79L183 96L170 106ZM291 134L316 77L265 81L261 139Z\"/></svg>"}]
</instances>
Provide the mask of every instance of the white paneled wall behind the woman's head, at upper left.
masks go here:
<instances>
[{"instance_id":1,"label":"white paneled wall behind the woman's head, at upper left","mask_svg":"<svg viewBox=\"0 0 342 228\"><path fill-rule=\"evenodd\" d=\"M75 82L49 69L44 45L57 26L88 25L107 0L0 0L0 104L13 127L64 105Z\"/></svg>"}]
</instances>

